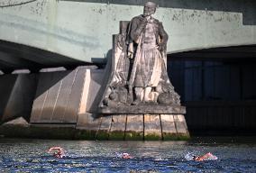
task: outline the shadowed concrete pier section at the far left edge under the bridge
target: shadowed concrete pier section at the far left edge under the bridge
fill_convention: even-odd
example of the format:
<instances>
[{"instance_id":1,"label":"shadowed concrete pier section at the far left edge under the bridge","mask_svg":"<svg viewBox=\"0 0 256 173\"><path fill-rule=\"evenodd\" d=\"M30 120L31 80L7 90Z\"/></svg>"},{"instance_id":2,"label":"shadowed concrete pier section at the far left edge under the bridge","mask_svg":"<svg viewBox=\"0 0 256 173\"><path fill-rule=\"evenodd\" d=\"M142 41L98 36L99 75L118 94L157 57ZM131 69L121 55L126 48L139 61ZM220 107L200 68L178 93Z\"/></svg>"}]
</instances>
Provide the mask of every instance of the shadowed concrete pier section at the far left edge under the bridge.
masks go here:
<instances>
[{"instance_id":1,"label":"shadowed concrete pier section at the far left edge under the bridge","mask_svg":"<svg viewBox=\"0 0 256 173\"><path fill-rule=\"evenodd\" d=\"M5 123L21 116L29 121L36 83L35 74L0 76L1 122Z\"/></svg>"}]
</instances>

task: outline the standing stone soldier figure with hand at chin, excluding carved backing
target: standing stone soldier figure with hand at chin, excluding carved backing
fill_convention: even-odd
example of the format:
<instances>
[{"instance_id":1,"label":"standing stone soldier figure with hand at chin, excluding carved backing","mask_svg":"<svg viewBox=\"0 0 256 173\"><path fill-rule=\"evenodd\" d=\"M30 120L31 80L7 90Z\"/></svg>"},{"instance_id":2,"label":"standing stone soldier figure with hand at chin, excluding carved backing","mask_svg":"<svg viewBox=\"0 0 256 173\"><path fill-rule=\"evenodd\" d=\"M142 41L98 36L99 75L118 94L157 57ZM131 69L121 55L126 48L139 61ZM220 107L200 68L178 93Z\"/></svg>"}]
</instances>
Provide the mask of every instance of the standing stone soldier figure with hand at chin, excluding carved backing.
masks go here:
<instances>
[{"instance_id":1,"label":"standing stone soldier figure with hand at chin, excluding carved backing","mask_svg":"<svg viewBox=\"0 0 256 173\"><path fill-rule=\"evenodd\" d=\"M155 11L156 4L146 3L143 14L133 17L128 31L128 57L133 59L129 78L135 94L133 105L154 102L160 94L156 88L169 80L164 60L168 34L162 23L151 16Z\"/></svg>"}]
</instances>

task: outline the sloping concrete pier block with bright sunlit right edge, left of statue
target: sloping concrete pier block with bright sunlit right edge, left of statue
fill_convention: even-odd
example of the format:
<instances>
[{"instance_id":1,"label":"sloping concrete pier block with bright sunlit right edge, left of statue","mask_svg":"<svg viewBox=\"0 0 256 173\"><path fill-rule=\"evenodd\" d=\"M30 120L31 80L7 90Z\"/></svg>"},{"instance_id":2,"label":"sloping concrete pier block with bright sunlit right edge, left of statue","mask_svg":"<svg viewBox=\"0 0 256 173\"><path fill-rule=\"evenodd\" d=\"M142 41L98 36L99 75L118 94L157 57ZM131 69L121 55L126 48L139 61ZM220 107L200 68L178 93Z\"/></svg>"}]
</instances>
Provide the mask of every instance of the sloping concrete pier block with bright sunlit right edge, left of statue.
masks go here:
<instances>
[{"instance_id":1,"label":"sloping concrete pier block with bright sunlit right edge, left of statue","mask_svg":"<svg viewBox=\"0 0 256 173\"><path fill-rule=\"evenodd\" d=\"M87 72L87 67L78 67L71 71L41 73L31 123L76 124L78 114L85 112L87 104Z\"/></svg>"}]
</instances>

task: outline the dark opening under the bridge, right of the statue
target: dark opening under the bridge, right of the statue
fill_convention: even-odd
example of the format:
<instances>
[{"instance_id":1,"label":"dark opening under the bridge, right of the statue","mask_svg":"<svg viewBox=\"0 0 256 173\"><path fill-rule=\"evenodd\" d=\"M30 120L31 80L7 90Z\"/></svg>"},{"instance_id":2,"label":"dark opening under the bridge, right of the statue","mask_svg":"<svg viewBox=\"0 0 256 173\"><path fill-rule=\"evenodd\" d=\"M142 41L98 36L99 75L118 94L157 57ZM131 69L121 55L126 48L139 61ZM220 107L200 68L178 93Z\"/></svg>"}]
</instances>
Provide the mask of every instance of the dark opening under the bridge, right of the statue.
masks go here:
<instances>
[{"instance_id":1,"label":"dark opening under the bridge, right of the statue","mask_svg":"<svg viewBox=\"0 0 256 173\"><path fill-rule=\"evenodd\" d=\"M170 80L187 107L192 134L256 133L256 47L168 56Z\"/></svg>"}]
</instances>

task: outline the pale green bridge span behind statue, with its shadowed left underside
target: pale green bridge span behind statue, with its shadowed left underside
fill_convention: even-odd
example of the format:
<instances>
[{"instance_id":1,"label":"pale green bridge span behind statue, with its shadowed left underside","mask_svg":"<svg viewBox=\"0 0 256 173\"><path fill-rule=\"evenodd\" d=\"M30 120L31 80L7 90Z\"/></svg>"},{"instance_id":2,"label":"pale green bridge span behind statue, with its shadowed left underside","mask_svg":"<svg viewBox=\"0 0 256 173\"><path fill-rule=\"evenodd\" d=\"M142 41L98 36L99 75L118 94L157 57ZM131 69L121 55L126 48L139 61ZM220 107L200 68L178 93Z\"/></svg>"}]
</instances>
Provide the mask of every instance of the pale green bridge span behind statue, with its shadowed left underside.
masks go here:
<instances>
[{"instance_id":1,"label":"pale green bridge span behind statue, with its shadowed left underside","mask_svg":"<svg viewBox=\"0 0 256 173\"><path fill-rule=\"evenodd\" d=\"M69 68L105 63L119 21L142 14L145 1L4 0L0 3L0 68ZM255 45L253 0L155 0L169 33L169 54Z\"/></svg>"}]
</instances>

